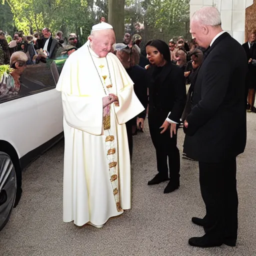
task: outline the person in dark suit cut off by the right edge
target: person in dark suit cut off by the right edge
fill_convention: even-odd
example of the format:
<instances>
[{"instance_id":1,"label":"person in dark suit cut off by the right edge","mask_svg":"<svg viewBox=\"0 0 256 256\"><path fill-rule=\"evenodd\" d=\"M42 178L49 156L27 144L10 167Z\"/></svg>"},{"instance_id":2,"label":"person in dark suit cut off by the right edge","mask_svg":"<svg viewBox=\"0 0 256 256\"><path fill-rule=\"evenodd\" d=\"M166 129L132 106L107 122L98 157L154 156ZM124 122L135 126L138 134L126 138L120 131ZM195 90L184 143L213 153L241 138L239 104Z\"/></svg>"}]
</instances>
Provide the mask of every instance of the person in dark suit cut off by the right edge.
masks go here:
<instances>
[{"instance_id":1,"label":"person in dark suit cut off by the right edge","mask_svg":"<svg viewBox=\"0 0 256 256\"><path fill-rule=\"evenodd\" d=\"M256 90L256 31L250 34L249 40L242 44L248 61L248 73L246 78L246 90L248 92L248 112L256 112L254 107ZM254 60L254 61L253 61Z\"/></svg>"}]
</instances>

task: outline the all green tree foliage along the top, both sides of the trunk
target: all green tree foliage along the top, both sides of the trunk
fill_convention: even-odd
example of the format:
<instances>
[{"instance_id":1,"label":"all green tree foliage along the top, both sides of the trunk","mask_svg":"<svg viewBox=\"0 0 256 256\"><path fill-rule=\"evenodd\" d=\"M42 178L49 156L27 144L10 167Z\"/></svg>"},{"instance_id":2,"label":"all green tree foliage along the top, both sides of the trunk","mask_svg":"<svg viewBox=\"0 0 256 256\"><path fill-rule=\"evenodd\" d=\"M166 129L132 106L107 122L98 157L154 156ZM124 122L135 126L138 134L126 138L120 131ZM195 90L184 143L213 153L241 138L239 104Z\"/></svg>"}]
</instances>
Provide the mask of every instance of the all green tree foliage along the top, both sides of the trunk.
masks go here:
<instances>
[{"instance_id":1,"label":"all green tree foliage along the top, both sides of the trunk","mask_svg":"<svg viewBox=\"0 0 256 256\"><path fill-rule=\"evenodd\" d=\"M14 24L25 34L43 27L65 34L76 32L87 37L92 24L108 17L108 0L3 0L4 23ZM6 4L7 3L7 4ZM10 11L11 10L11 11ZM1 11L1 13L3 13ZM138 32L143 41L159 38L165 41L188 34L189 0L125 0L125 31ZM142 26L136 26L136 24ZM10 25L0 23L0 29Z\"/></svg>"}]
</instances>

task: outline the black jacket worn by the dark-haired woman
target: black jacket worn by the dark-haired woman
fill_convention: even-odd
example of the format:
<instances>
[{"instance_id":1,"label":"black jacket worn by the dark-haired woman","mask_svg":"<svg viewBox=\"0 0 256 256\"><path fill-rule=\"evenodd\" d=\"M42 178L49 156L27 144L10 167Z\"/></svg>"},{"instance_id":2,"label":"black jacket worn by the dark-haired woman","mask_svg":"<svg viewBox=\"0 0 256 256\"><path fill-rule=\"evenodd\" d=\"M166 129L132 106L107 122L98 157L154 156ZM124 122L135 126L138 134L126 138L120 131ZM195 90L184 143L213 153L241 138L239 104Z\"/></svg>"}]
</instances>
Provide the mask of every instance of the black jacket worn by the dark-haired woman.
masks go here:
<instances>
[{"instance_id":1,"label":"black jacket worn by the dark-haired woman","mask_svg":"<svg viewBox=\"0 0 256 256\"><path fill-rule=\"evenodd\" d=\"M153 75L154 68L150 65L147 69L149 113L160 111L168 114L170 111L168 118L179 123L186 102L184 73L171 62L164 65L156 76Z\"/></svg>"}]
</instances>

